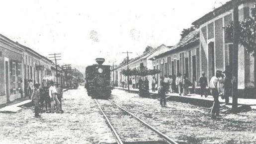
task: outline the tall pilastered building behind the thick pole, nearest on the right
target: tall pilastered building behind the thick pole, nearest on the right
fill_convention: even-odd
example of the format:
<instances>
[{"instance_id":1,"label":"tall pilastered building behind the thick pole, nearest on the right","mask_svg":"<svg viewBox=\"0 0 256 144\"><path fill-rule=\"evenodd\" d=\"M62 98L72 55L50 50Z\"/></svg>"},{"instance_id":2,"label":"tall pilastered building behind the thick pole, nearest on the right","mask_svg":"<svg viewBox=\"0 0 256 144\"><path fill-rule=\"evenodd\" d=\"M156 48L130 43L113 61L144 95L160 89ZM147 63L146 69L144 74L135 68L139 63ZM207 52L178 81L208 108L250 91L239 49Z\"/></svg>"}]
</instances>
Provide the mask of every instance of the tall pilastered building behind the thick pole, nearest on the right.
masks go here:
<instances>
[{"instance_id":1,"label":"tall pilastered building behind the thick pole, nearest on the right","mask_svg":"<svg viewBox=\"0 0 256 144\"><path fill-rule=\"evenodd\" d=\"M239 5L239 21L251 15L255 0L243 0ZM224 71L233 65L233 42L229 41L224 27L233 21L232 0L207 13L192 24L200 31L200 71L205 72L208 80L216 70ZM254 57L248 54L244 46L238 48L238 89L239 96L253 95Z\"/></svg>"}]
</instances>

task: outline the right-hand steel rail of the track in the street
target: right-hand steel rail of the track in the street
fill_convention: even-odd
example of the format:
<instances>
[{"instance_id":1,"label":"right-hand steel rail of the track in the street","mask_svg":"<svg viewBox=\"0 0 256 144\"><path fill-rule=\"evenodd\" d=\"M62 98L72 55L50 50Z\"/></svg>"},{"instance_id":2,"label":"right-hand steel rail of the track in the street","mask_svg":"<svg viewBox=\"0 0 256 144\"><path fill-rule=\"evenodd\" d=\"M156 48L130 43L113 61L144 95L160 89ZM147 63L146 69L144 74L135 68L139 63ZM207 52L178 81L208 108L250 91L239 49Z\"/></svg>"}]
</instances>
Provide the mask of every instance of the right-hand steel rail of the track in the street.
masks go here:
<instances>
[{"instance_id":1,"label":"right-hand steel rail of the track in the street","mask_svg":"<svg viewBox=\"0 0 256 144\"><path fill-rule=\"evenodd\" d=\"M161 137L163 137L167 142L169 142L170 144L178 144L177 142L175 142L174 140L172 140L171 138L169 138L168 136L166 136L165 134L161 133L160 131L158 131L157 129L153 128L152 126L150 126L149 124L147 124L146 122L144 122L142 119L140 119L139 117L135 116L134 114L128 112L127 110L123 109L121 106L119 106L118 104L116 104L115 102L113 102L112 100L108 99L109 101L111 101L113 104L115 104L117 107L119 107L120 109L122 109L123 111L125 111L126 113L130 114L131 116L135 117L137 120L139 120L140 122L142 122L144 125L146 125L147 127L149 127L151 130L155 131L157 134L159 134Z\"/></svg>"}]
</instances>

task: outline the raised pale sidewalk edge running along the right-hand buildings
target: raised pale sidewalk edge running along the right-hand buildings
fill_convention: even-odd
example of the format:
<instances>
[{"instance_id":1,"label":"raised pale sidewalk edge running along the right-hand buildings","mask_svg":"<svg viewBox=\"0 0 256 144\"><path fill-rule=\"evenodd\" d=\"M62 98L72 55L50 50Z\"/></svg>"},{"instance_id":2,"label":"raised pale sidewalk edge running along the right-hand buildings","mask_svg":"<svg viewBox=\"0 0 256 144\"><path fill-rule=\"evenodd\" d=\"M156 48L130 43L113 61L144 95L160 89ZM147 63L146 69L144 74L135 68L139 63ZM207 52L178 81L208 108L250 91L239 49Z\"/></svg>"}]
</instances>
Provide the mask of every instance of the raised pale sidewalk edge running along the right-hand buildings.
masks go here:
<instances>
[{"instance_id":1,"label":"raised pale sidewalk edge running along the right-hand buildings","mask_svg":"<svg viewBox=\"0 0 256 144\"><path fill-rule=\"evenodd\" d=\"M122 87L115 87L117 89L123 89ZM128 88L124 88L123 90L128 90ZM133 93L138 93L139 89L130 89ZM156 90L153 92L152 90L149 91L151 94L157 94L158 91ZM178 93L168 93L166 94L167 99L175 99L175 100L182 100L182 101L197 101L197 102L204 102L207 104L212 104L213 97L211 95L208 95L208 97L201 97L199 94L188 94L186 96L178 95ZM219 98L220 103L225 103L225 99ZM256 99L246 99L246 98L238 98L238 105L247 105L250 106L252 109L256 109ZM229 98L229 105L227 107L232 106L232 97Z\"/></svg>"}]
</instances>

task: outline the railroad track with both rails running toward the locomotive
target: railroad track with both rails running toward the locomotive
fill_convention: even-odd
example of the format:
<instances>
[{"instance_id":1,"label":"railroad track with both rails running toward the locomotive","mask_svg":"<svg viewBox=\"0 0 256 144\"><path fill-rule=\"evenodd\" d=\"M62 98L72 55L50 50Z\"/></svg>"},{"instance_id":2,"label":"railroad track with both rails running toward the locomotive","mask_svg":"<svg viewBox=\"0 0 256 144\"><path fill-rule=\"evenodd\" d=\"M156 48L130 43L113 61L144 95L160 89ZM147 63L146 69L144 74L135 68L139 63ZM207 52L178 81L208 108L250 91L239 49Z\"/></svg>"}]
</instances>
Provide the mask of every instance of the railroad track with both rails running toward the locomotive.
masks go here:
<instances>
[{"instance_id":1,"label":"railroad track with both rails running toward the locomotive","mask_svg":"<svg viewBox=\"0 0 256 144\"><path fill-rule=\"evenodd\" d=\"M109 107L110 105L105 105L104 107L103 107L103 110L102 110L102 108L100 107L100 104L98 103L98 100L96 100L96 99L94 99L95 100L95 102L96 102L96 104L97 104L97 106L99 107L99 109L100 109L100 111L101 111L101 113L103 114L103 116L105 117L105 119L106 119L106 121L107 121L107 123L108 123L108 125L109 125L109 127L110 127L110 129L111 129L111 131L113 132L113 134L115 135L115 137L116 137L116 139L117 139L117 143L118 144L125 144L126 142L124 142L124 138L123 139L121 139L120 137L120 134L121 135L124 135L124 133L122 133L122 132L117 132L118 130L116 130L115 128L114 128L114 124L115 123L111 123L110 122L110 120L109 120L109 117L110 117L110 119L111 119L111 116L112 117L114 117L113 115L116 115L116 117L118 117L118 119L121 121L121 118L122 118L122 116L124 116L124 115L126 115L126 116L132 116L132 118L134 118L135 119L135 121L137 121L137 122L139 122L141 125L143 125L143 126L145 126L145 127L147 127L148 129L150 129L152 132L151 132L151 134L152 133L154 133L154 135L158 135L158 137L161 137L160 139L162 139L162 141L157 141L157 142L160 142L160 143L157 143L156 142L156 144L178 144L178 143L176 143L174 140L172 140L171 138L169 138L168 136L166 136L165 134L163 134L163 133L161 133L160 131L158 131L157 129L155 129L155 128L153 128L151 125L149 125L149 124L147 124L145 121L143 121L143 120L141 120L139 117L137 117L137 116L135 116L134 114L132 114L131 112L129 112L129 111L127 111L127 110L125 110L124 108L122 108L121 106L119 106L118 104L116 104L115 102L113 102L112 100L110 100L110 99L107 99L107 100L105 100L105 101L109 101L111 104L112 104L112 106L114 106L114 107L116 107L115 109L113 109L112 108L112 110L110 110L110 111L106 111L105 110L105 107ZM105 102L104 101L104 102ZM121 110L121 111L118 111L118 109L119 110ZM107 114L106 113L110 113L109 114L109 116L107 116ZM122 116L121 116L122 115ZM129 120L127 117L125 118L125 117L123 117L125 120L124 121L131 121L131 120ZM115 125L118 125L118 124L115 124ZM125 125L125 124L122 124L122 125ZM116 126L117 127L117 126ZM121 126L122 127L122 126ZM138 126L138 129L141 129L141 127L139 128L139 126ZM125 130L123 130L123 131L125 131ZM136 130L137 131L137 130ZM143 130L144 131L144 130ZM144 131L145 133L146 132L148 132L148 131ZM136 133L136 132L135 132ZM123 136L124 137L124 136ZM136 142L135 142L136 143ZM138 144L138 143L137 143ZM146 143L145 143L146 144ZM152 144L152 143L150 143L150 144ZM155 144L155 143L154 143Z\"/></svg>"}]
</instances>

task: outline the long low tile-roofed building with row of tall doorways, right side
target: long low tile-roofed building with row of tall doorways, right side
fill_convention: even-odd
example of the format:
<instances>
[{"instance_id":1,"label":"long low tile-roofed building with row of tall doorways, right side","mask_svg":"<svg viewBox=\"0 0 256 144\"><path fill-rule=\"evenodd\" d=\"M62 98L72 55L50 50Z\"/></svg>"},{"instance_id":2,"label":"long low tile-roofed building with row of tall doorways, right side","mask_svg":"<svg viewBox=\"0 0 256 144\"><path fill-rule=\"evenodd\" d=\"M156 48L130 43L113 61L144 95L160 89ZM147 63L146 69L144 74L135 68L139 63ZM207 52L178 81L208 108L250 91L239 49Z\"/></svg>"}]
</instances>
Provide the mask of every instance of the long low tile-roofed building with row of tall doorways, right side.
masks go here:
<instances>
[{"instance_id":1,"label":"long low tile-roofed building with row of tall doorways, right side","mask_svg":"<svg viewBox=\"0 0 256 144\"><path fill-rule=\"evenodd\" d=\"M190 81L200 76L199 30L190 32L175 46L165 53L156 55L152 60L154 69L161 72L155 74L158 84L166 75L186 75ZM194 80L196 81L196 80Z\"/></svg>"}]
</instances>

